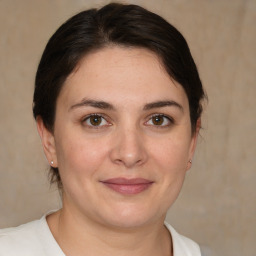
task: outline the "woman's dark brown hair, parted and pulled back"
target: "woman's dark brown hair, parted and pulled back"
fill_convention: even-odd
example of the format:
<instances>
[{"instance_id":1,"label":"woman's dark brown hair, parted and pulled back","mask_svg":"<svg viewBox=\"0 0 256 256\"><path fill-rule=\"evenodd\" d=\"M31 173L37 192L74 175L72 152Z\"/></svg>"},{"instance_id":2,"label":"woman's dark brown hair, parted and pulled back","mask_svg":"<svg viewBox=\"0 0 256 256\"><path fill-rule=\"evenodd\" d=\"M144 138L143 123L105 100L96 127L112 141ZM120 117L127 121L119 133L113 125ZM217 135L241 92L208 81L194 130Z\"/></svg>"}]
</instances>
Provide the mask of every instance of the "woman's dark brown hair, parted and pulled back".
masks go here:
<instances>
[{"instance_id":1,"label":"woman's dark brown hair, parted and pulled back","mask_svg":"<svg viewBox=\"0 0 256 256\"><path fill-rule=\"evenodd\" d=\"M56 101L66 78L84 56L110 45L142 47L159 57L170 77L186 92L195 132L205 93L186 40L157 14L117 3L78 13L50 38L36 73L34 117L40 116L54 133ZM58 168L51 167L50 180L62 187Z\"/></svg>"}]
</instances>

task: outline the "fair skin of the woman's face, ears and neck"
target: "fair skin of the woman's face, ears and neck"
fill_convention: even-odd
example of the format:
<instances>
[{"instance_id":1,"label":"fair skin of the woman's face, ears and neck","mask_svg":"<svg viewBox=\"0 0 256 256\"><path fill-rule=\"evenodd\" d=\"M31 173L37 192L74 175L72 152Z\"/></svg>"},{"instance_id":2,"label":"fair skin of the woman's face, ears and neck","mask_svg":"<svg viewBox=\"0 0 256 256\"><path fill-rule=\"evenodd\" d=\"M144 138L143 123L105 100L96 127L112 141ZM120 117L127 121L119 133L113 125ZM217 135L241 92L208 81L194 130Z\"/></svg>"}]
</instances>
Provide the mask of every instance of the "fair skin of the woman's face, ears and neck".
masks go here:
<instances>
[{"instance_id":1,"label":"fair skin of the woman's face, ears and neck","mask_svg":"<svg viewBox=\"0 0 256 256\"><path fill-rule=\"evenodd\" d=\"M63 183L63 208L47 221L65 254L172 254L163 223L191 167L200 120L191 134L187 96L154 53L115 46L89 54L57 99L54 133L40 117L37 125ZM123 194L102 182L120 177L151 185Z\"/></svg>"}]
</instances>

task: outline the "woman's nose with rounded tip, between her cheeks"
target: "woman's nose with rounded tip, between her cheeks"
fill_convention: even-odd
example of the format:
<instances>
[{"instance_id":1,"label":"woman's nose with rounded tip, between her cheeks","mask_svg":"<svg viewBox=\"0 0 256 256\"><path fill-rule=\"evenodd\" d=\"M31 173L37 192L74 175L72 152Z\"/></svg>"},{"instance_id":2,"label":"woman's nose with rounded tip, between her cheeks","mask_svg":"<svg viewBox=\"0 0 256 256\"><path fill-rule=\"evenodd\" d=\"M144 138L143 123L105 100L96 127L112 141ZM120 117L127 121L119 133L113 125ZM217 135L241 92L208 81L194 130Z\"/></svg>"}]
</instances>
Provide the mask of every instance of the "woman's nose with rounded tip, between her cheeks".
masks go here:
<instances>
[{"instance_id":1,"label":"woman's nose with rounded tip, between her cheeks","mask_svg":"<svg viewBox=\"0 0 256 256\"><path fill-rule=\"evenodd\" d=\"M148 158L145 141L134 129L119 129L114 135L111 161L126 168L143 165Z\"/></svg>"}]
</instances>

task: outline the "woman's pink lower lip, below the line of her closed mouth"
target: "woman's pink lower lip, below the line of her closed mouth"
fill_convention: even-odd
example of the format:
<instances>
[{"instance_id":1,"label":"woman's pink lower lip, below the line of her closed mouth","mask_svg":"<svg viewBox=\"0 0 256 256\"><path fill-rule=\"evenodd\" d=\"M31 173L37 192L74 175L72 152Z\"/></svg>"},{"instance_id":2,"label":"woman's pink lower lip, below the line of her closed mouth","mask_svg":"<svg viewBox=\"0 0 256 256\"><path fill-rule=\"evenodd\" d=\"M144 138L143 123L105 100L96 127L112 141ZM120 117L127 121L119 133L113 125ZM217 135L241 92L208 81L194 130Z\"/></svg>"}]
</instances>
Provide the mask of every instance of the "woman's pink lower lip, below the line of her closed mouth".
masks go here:
<instances>
[{"instance_id":1,"label":"woman's pink lower lip, below the line of her closed mouth","mask_svg":"<svg viewBox=\"0 0 256 256\"><path fill-rule=\"evenodd\" d=\"M153 183L142 183L142 184L115 184L115 183L104 183L108 188L123 194L123 195L136 195L147 190Z\"/></svg>"}]
</instances>

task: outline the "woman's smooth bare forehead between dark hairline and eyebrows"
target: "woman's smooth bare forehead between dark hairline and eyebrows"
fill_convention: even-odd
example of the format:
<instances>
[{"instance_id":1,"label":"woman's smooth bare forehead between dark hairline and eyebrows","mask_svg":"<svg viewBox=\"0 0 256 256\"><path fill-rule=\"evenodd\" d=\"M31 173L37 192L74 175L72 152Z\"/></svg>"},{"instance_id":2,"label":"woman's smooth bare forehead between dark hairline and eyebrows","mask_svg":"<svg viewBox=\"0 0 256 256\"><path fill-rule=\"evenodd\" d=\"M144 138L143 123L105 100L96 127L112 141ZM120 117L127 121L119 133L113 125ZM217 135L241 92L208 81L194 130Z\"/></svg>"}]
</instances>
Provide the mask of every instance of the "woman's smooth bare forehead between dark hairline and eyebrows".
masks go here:
<instances>
[{"instance_id":1,"label":"woman's smooth bare forehead between dark hairline and eyebrows","mask_svg":"<svg viewBox=\"0 0 256 256\"><path fill-rule=\"evenodd\" d=\"M66 103L84 97L114 103L168 97L181 104L187 101L182 86L170 78L156 54L143 48L117 46L84 57L59 96Z\"/></svg>"}]
</instances>

